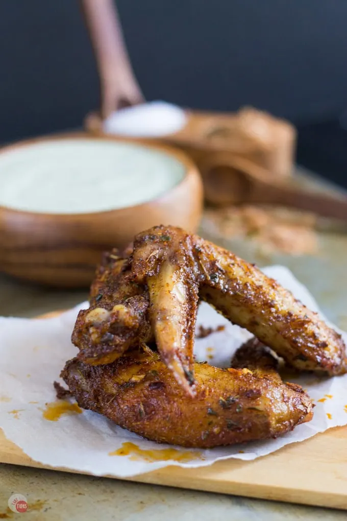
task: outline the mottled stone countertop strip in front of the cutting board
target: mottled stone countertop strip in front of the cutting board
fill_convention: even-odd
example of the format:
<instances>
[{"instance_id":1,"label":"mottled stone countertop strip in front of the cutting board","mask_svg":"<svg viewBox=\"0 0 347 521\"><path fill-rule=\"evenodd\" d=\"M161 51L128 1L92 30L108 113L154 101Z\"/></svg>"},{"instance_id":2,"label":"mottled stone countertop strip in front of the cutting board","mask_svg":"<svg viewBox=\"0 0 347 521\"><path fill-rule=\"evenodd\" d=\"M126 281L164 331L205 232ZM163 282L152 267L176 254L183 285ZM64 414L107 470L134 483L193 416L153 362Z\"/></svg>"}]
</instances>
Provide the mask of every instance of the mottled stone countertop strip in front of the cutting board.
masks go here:
<instances>
[{"instance_id":1,"label":"mottled stone countertop strip in front of the cutting board","mask_svg":"<svg viewBox=\"0 0 347 521\"><path fill-rule=\"evenodd\" d=\"M2 465L0 519L19 519L7 501L25 495L25 521L345 521L343 511L239 498L54 470Z\"/></svg>"}]
</instances>

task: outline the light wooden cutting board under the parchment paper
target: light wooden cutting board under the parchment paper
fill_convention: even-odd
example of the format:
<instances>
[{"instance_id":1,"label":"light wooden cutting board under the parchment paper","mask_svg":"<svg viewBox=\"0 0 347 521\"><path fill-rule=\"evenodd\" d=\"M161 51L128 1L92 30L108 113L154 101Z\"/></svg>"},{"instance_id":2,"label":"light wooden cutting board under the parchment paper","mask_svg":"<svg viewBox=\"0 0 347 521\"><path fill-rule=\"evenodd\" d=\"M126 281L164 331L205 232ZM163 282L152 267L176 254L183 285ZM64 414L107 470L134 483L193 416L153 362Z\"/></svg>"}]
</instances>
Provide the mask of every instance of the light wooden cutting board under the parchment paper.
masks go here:
<instances>
[{"instance_id":1,"label":"light wooden cutting board under the parchment paper","mask_svg":"<svg viewBox=\"0 0 347 521\"><path fill-rule=\"evenodd\" d=\"M52 468L33 461L1 429L0 462ZM251 462L226 460L194 469L171 466L129 480L347 510L347 426Z\"/></svg>"}]
</instances>

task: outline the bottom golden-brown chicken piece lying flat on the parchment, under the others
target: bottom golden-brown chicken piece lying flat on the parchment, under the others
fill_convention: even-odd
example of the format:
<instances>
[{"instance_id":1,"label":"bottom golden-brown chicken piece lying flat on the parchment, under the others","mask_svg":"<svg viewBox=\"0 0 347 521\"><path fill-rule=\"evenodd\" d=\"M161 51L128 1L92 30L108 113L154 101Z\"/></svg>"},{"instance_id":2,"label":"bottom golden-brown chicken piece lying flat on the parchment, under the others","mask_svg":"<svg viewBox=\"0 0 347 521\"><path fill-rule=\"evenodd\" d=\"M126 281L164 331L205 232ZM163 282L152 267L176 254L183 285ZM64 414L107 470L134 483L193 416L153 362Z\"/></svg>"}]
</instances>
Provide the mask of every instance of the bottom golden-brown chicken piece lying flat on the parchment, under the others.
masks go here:
<instances>
[{"instance_id":1,"label":"bottom golden-brown chicken piece lying flat on the parchment, under the others","mask_svg":"<svg viewBox=\"0 0 347 521\"><path fill-rule=\"evenodd\" d=\"M311 400L299 386L243 368L195 363L194 373L192 397L146 348L104 366L74 358L61 376L81 407L161 443L212 448L276 437L312 418Z\"/></svg>"}]
</instances>

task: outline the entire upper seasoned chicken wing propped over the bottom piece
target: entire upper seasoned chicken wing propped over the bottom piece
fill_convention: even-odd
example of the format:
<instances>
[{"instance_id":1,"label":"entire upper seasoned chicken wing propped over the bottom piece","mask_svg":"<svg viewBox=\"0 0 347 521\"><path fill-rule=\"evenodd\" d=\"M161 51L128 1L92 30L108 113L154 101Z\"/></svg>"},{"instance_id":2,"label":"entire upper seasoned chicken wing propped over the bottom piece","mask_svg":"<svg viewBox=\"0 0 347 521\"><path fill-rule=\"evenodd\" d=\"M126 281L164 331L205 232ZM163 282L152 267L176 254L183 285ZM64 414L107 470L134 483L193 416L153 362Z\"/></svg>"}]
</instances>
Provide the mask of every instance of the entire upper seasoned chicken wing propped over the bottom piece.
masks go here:
<instances>
[{"instance_id":1,"label":"entire upper seasoned chicken wing propped over the bottom piece","mask_svg":"<svg viewBox=\"0 0 347 521\"><path fill-rule=\"evenodd\" d=\"M341 336L316 313L254 265L181 229L158 226L138 234L130 257L114 259L94 287L99 293L93 289L91 308L80 313L72 337L84 362L109 363L154 334L163 362L194 394L200 297L293 367L346 371Z\"/></svg>"}]
</instances>

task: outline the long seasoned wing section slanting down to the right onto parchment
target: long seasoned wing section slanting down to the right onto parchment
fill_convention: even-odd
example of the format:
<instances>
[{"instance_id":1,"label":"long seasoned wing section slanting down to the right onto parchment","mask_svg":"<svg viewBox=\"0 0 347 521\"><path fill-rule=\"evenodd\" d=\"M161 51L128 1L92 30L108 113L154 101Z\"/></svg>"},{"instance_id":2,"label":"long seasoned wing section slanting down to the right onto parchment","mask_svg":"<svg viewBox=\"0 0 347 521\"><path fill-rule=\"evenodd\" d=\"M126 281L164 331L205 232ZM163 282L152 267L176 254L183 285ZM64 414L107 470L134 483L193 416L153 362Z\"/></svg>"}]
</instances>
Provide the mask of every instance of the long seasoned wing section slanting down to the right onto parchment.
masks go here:
<instances>
[{"instance_id":1,"label":"long seasoned wing section slanting down to the right onto parchment","mask_svg":"<svg viewBox=\"0 0 347 521\"><path fill-rule=\"evenodd\" d=\"M299 370L346 372L341 335L254 265L196 238L205 273L200 297Z\"/></svg>"}]
</instances>

